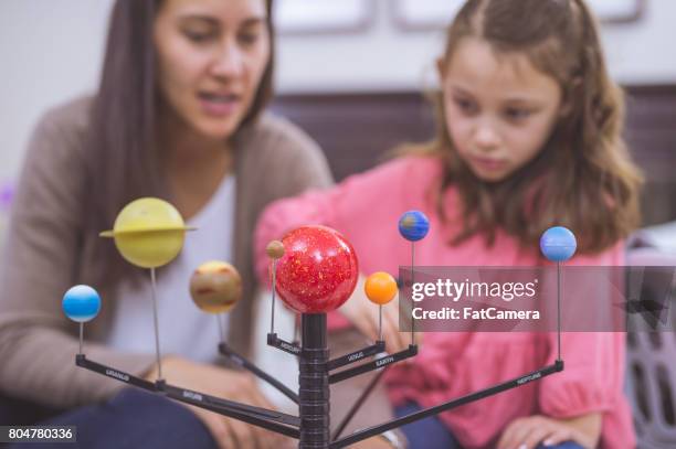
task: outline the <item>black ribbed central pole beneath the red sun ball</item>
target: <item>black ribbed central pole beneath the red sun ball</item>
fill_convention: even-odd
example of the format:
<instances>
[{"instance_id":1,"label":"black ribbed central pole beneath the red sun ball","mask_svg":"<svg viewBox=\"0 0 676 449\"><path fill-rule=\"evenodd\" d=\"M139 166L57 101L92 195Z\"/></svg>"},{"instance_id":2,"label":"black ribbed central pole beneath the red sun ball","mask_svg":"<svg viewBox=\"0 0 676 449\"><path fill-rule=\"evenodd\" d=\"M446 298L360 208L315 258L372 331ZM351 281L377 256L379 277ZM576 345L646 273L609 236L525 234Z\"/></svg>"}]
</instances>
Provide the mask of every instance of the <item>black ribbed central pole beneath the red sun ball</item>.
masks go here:
<instances>
[{"instance_id":1,"label":"black ribbed central pole beneath the red sun ball","mask_svg":"<svg viewBox=\"0 0 676 449\"><path fill-rule=\"evenodd\" d=\"M300 449L328 449L329 382L326 313L303 313L303 352L298 374Z\"/></svg>"}]
</instances>

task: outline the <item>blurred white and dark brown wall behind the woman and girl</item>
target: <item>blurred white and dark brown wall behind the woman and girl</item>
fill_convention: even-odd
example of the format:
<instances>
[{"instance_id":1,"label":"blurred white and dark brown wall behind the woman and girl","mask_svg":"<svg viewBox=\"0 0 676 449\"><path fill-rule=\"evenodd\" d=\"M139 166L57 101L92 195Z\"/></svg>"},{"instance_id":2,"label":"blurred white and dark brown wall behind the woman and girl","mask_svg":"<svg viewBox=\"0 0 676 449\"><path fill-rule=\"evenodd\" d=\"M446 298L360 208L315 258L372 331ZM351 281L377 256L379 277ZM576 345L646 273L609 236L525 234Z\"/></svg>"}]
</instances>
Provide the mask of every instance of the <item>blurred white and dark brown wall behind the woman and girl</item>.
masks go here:
<instances>
[{"instance_id":1,"label":"blurred white and dark brown wall behind the woman and girl","mask_svg":"<svg viewBox=\"0 0 676 449\"><path fill-rule=\"evenodd\" d=\"M0 179L12 179L51 106L96 88L112 0L0 3ZM611 73L629 93L627 138L644 169L644 223L676 220L676 2L592 0ZM275 109L327 152L338 180L432 135L443 23L457 0L277 0ZM436 22L430 22L436 17ZM29 31L30 30L30 31Z\"/></svg>"}]
</instances>

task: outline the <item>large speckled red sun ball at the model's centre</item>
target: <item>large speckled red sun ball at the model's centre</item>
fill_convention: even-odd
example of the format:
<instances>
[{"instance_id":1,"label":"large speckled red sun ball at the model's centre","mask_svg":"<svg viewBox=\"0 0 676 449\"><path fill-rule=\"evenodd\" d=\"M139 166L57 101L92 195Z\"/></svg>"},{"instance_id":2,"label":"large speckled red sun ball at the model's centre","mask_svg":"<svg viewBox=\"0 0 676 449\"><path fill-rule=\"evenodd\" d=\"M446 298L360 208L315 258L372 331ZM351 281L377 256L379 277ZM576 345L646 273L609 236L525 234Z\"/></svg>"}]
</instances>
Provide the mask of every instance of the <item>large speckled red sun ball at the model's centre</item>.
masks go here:
<instances>
[{"instance_id":1,"label":"large speckled red sun ball at the model's centre","mask_svg":"<svg viewBox=\"0 0 676 449\"><path fill-rule=\"evenodd\" d=\"M276 290L299 313L329 312L357 286L359 266L352 245L326 226L303 226L284 236L277 260Z\"/></svg>"}]
</instances>

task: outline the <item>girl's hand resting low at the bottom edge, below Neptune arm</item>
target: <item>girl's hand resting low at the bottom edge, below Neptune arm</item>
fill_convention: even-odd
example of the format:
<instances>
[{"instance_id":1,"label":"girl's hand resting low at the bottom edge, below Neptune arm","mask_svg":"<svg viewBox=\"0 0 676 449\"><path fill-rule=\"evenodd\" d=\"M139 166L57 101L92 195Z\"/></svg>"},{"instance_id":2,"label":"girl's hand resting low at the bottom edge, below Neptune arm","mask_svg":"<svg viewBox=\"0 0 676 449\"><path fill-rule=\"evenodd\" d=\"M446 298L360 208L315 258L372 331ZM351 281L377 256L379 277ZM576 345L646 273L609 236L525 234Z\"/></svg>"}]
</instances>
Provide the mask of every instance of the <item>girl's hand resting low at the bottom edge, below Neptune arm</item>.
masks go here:
<instances>
[{"instance_id":1,"label":"girl's hand resting low at the bottom edge, below Neptune arm","mask_svg":"<svg viewBox=\"0 0 676 449\"><path fill-rule=\"evenodd\" d=\"M511 421L503 431L498 449L535 449L574 441L585 449L594 449L601 435L601 415L584 415L574 419L553 419L536 415Z\"/></svg>"}]
</instances>

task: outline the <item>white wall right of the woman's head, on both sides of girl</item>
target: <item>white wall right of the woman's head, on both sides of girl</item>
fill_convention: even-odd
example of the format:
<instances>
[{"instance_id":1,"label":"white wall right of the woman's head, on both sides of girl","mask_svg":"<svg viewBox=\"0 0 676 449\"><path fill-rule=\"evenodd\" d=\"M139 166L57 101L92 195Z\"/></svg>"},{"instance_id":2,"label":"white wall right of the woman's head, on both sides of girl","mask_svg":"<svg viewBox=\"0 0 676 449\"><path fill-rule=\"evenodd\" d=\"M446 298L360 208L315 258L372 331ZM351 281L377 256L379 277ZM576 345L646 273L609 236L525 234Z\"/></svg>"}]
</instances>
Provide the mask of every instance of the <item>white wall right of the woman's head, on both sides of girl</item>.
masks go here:
<instances>
[{"instance_id":1,"label":"white wall right of the woman's head, on both sides of girl","mask_svg":"<svg viewBox=\"0 0 676 449\"><path fill-rule=\"evenodd\" d=\"M676 83L676 1L645 2L640 22L603 28L611 72L622 83ZM279 45L279 87L388 90L418 89L434 82L432 62L443 50L443 30L402 32L393 25L392 3L377 0L374 23L365 33L285 36Z\"/></svg>"}]
</instances>

